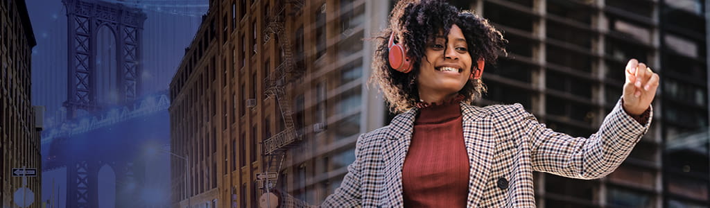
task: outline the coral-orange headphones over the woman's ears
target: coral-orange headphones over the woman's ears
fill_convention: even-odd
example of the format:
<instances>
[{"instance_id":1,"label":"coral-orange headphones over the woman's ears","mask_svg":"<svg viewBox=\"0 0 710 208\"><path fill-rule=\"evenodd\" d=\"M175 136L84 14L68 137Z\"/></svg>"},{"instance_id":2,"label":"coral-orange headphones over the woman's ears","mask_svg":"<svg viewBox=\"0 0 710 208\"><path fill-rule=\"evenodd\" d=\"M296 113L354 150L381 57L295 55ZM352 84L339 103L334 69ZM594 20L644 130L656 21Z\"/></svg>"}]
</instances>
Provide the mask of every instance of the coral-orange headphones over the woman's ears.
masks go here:
<instances>
[{"instance_id":1,"label":"coral-orange headphones over the woman's ears","mask_svg":"<svg viewBox=\"0 0 710 208\"><path fill-rule=\"evenodd\" d=\"M395 43L394 32L392 32L392 34L390 35L390 40L387 43L387 48L389 51L390 67L392 67L394 70L397 70L398 72L403 73L409 73L410 71L412 71L413 66L410 57L407 56L407 50L405 50L403 45ZM475 72L471 73L469 79L481 79L481 76L484 74L484 66L486 65L484 59L479 58L477 64L478 68Z\"/></svg>"}]
</instances>

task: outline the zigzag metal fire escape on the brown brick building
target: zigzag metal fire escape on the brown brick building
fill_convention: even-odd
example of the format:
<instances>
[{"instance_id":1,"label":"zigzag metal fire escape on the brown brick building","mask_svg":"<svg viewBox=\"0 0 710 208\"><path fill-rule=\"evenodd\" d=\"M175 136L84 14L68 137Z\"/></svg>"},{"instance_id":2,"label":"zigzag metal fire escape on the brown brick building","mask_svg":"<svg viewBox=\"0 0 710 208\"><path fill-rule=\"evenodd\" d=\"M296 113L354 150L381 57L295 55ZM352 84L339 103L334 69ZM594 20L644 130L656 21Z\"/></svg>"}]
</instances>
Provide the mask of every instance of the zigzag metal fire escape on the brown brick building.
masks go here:
<instances>
[{"instance_id":1,"label":"zigzag metal fire escape on the brown brick building","mask_svg":"<svg viewBox=\"0 0 710 208\"><path fill-rule=\"evenodd\" d=\"M302 0L287 1L287 3L291 4L291 11L295 12L300 11L304 5ZM290 13L289 16L295 16L295 12ZM257 182L260 182L259 186L263 185L266 192L269 192L278 180L278 173L285 160L286 151L297 146L302 140L302 137L298 135L300 133L297 134L296 126L294 125L291 100L285 87L287 87L288 83L301 77L305 71L302 65L296 65L293 60L290 35L286 33L285 6L283 4L282 6L274 6L270 13L271 15L266 16L267 26L263 31L264 41L268 42L274 37L278 40L278 46L282 53L282 62L263 81L266 84L266 97L275 99L279 106L285 129L271 136L271 138L266 138L261 143L264 159L262 164L265 166L262 166L263 173L261 177L256 179Z\"/></svg>"}]
</instances>

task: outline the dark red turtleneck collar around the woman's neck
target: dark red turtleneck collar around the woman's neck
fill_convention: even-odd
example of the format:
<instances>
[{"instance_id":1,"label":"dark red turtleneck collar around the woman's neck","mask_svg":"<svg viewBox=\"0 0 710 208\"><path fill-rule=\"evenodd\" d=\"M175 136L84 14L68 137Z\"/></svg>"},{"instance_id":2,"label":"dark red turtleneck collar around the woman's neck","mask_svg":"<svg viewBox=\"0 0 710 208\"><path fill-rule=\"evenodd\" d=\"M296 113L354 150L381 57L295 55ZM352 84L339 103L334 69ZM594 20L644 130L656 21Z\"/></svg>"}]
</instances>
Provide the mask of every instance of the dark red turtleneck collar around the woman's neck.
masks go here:
<instances>
[{"instance_id":1,"label":"dark red turtleneck collar around the woman's neck","mask_svg":"<svg viewBox=\"0 0 710 208\"><path fill-rule=\"evenodd\" d=\"M418 102L416 106L420 110L414 123L442 124L444 122L457 119L461 117L461 106L459 103L462 100L464 100L464 96L457 94L457 96L441 102Z\"/></svg>"}]
</instances>

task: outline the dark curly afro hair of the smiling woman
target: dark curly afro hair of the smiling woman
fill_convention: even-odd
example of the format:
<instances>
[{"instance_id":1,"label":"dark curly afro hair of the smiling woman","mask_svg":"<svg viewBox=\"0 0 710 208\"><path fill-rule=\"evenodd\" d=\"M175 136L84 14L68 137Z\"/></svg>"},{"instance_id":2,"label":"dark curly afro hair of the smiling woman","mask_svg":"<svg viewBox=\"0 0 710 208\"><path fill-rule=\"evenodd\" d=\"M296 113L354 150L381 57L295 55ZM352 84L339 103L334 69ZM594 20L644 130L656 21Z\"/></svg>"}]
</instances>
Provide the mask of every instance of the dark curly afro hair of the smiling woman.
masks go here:
<instances>
[{"instance_id":1,"label":"dark curly afro hair of the smiling woman","mask_svg":"<svg viewBox=\"0 0 710 208\"><path fill-rule=\"evenodd\" d=\"M408 111L420 100L413 83L419 73L420 60L425 56L426 45L437 35L443 33L446 37L454 24L464 33L471 60L483 58L486 63L494 64L498 55L507 55L505 45L508 40L485 18L470 11L459 11L442 0L399 1L390 14L390 27L376 37L373 75L370 77L370 83L375 82L383 92L391 112ZM389 65L391 33L398 37L398 42L407 48L407 55L413 59L413 69L409 73L398 72ZM459 94L464 96L464 102L471 104L484 92L486 87L481 80L469 80Z\"/></svg>"}]
</instances>

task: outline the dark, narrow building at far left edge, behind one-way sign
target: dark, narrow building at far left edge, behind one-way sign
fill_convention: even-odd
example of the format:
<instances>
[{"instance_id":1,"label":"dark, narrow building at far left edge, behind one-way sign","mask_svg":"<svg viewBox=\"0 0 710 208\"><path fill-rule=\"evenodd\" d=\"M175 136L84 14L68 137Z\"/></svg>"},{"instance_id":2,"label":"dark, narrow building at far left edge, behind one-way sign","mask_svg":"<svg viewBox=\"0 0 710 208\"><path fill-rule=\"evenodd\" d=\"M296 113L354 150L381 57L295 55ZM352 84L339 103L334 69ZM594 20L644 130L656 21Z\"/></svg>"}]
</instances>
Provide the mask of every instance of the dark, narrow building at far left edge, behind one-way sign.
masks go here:
<instances>
[{"instance_id":1,"label":"dark, narrow building at far left edge, behind one-way sign","mask_svg":"<svg viewBox=\"0 0 710 208\"><path fill-rule=\"evenodd\" d=\"M25 1L0 2L0 206L15 207L21 187L35 192L31 207L41 207L41 106L32 106L31 54L36 45ZM39 116L39 117L35 117ZM13 177L13 168L36 168L37 176ZM29 195L28 195L29 197Z\"/></svg>"}]
</instances>

